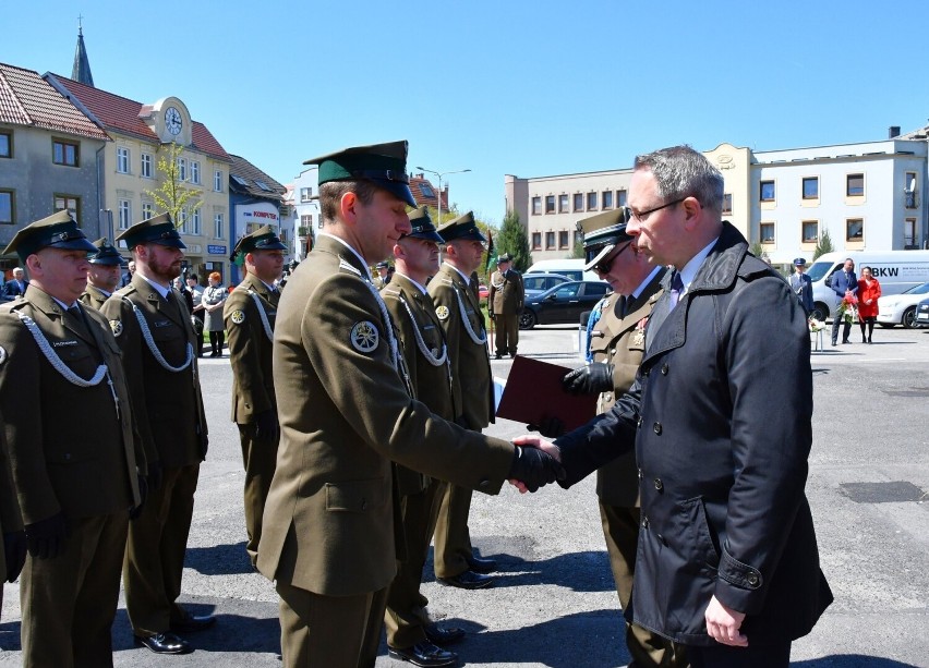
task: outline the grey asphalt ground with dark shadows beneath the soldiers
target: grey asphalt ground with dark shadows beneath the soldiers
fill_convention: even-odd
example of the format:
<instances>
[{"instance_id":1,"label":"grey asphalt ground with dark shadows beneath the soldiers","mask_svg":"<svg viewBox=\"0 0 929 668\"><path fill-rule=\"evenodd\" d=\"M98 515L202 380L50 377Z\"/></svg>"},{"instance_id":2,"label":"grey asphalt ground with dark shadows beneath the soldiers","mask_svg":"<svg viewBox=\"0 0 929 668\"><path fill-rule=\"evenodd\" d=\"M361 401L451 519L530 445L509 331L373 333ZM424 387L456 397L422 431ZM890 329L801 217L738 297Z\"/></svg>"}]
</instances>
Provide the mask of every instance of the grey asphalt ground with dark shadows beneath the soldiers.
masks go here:
<instances>
[{"instance_id":1,"label":"grey asphalt ground with dark shadows beneath the soldiers","mask_svg":"<svg viewBox=\"0 0 929 668\"><path fill-rule=\"evenodd\" d=\"M577 328L522 332L520 353L579 364ZM853 341L858 339L857 328ZM813 448L807 495L822 568L835 594L816 629L794 644L809 668L929 666L929 329L878 329L871 345L812 353ZM510 360L494 361L505 378ZM201 470L181 600L218 616L191 634L193 654L156 656L133 646L120 602L113 627L117 666L280 666L274 586L244 551L243 472L229 421L227 357L201 362L210 450ZM771 398L776 401L776 397ZM510 438L524 426L499 421L487 433ZM579 668L629 661L603 545L593 477L568 491L474 495L471 536L499 562L493 587L464 592L435 582L423 592L441 621L463 627L454 649L462 666ZM8 584L0 618L0 666L21 665L19 585ZM387 657L378 668L409 666Z\"/></svg>"}]
</instances>

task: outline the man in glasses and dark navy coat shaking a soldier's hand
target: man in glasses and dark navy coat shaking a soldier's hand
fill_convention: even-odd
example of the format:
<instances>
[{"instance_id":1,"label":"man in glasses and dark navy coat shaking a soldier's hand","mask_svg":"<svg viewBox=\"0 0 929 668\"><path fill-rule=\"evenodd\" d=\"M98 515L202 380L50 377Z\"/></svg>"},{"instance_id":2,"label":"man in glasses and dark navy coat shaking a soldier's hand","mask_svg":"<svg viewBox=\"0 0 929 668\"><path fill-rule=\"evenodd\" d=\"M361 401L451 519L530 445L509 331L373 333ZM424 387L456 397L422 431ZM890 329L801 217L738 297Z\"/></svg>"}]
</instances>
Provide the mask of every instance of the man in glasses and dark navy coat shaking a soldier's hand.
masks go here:
<instances>
[{"instance_id":1,"label":"man in glasses and dark navy coat shaking a soldier's hand","mask_svg":"<svg viewBox=\"0 0 929 668\"><path fill-rule=\"evenodd\" d=\"M832 602L804 493L809 335L787 282L721 220L722 199L722 175L689 147L636 159L627 232L676 270L632 388L555 445L565 486L636 448L627 619L687 645L695 668L786 667Z\"/></svg>"}]
</instances>

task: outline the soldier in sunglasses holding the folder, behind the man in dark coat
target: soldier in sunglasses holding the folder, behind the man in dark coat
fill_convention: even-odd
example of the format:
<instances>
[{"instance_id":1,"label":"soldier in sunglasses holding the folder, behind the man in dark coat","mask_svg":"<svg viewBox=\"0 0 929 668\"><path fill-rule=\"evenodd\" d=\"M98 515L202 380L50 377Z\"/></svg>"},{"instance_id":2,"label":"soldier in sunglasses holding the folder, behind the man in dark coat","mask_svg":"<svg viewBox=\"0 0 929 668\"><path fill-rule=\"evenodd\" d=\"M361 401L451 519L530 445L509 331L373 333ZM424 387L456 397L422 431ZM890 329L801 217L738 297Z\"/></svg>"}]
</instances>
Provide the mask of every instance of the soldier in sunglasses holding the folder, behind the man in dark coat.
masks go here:
<instances>
[{"instance_id":1,"label":"soldier in sunglasses holding the folder, behind the man in dark coat","mask_svg":"<svg viewBox=\"0 0 929 668\"><path fill-rule=\"evenodd\" d=\"M596 271L613 293L604 297L602 315L591 329L593 363L565 376L565 387L572 393L599 393L599 413L608 411L636 379L646 350L646 323L663 293L661 282L666 271L650 265L636 251L626 222L626 209L620 208L578 223L583 232L584 271ZM638 486L635 452L598 471L603 536L623 609L629 606L632 594L640 523ZM626 622L626 647L632 665L642 668L688 665L681 645L630 622Z\"/></svg>"}]
</instances>

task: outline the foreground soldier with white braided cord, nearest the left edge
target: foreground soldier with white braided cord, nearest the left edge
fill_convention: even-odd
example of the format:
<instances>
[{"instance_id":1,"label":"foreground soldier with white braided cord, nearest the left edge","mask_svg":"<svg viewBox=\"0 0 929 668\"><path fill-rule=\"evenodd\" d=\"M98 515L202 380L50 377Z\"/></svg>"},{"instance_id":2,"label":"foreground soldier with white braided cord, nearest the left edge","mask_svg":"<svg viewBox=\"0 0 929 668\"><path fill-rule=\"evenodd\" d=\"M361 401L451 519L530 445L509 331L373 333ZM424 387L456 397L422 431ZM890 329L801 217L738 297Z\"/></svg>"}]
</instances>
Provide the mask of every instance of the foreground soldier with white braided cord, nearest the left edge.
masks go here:
<instances>
[{"instance_id":1,"label":"foreground soldier with white braided cord, nearest the left edge","mask_svg":"<svg viewBox=\"0 0 929 668\"><path fill-rule=\"evenodd\" d=\"M0 412L29 554L20 585L24 666L112 666L111 627L145 457L107 320L83 307L87 253L68 211L5 253L29 270L0 307ZM93 416L93 428L82 428Z\"/></svg>"}]
</instances>

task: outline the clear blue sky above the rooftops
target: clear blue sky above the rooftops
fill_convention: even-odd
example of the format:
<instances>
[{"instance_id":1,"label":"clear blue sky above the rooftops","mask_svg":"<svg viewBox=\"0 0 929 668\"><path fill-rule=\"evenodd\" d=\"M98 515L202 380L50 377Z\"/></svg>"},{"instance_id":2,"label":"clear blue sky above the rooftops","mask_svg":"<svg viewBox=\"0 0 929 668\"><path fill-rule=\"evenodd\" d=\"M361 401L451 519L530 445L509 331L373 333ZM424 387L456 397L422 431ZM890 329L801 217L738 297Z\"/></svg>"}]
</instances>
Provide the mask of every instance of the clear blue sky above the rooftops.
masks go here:
<instances>
[{"instance_id":1,"label":"clear blue sky above the rooftops","mask_svg":"<svg viewBox=\"0 0 929 668\"><path fill-rule=\"evenodd\" d=\"M99 88L180 97L278 181L306 158L406 138L411 171L471 169L449 177L450 199L495 223L507 173L624 168L679 143L873 141L929 117L918 3L7 4L0 62L70 75L83 14Z\"/></svg>"}]
</instances>

